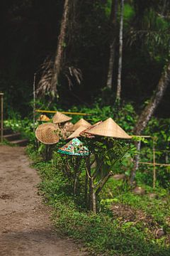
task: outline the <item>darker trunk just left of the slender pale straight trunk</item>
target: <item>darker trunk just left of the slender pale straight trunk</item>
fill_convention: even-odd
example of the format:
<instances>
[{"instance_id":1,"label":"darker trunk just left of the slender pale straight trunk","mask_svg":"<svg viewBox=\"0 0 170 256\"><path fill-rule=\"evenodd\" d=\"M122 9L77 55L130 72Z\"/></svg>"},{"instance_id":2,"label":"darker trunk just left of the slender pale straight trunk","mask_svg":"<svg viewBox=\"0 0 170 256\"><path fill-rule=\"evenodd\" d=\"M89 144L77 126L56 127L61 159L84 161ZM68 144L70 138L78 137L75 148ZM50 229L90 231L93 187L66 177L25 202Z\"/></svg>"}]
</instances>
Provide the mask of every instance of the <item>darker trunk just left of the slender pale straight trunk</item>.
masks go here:
<instances>
[{"instance_id":1,"label":"darker trunk just left of the slender pale straight trunk","mask_svg":"<svg viewBox=\"0 0 170 256\"><path fill-rule=\"evenodd\" d=\"M110 57L108 63L108 78L107 87L112 88L113 84L113 65L115 60L115 41L116 41L116 26L117 26L117 14L118 14L118 0L112 0L111 7L111 43L110 43Z\"/></svg>"}]
</instances>

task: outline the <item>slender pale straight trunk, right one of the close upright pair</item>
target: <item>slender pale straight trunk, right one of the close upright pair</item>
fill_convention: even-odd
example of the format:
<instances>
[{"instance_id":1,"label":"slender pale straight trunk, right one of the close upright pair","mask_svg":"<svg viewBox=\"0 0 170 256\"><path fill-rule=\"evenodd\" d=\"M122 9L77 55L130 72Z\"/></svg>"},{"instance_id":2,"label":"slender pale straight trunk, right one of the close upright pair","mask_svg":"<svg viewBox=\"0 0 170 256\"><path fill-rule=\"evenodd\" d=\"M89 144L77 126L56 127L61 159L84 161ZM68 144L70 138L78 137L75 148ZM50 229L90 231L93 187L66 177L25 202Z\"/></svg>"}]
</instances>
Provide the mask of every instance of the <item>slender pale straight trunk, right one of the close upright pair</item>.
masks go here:
<instances>
[{"instance_id":1,"label":"slender pale straight trunk, right one of the close upright pair","mask_svg":"<svg viewBox=\"0 0 170 256\"><path fill-rule=\"evenodd\" d=\"M120 101L120 93L121 93L122 60L123 60L123 10L124 10L124 0L121 0L121 4L120 4L118 85L117 85L117 92L116 92L116 100L118 100L118 101Z\"/></svg>"}]
</instances>

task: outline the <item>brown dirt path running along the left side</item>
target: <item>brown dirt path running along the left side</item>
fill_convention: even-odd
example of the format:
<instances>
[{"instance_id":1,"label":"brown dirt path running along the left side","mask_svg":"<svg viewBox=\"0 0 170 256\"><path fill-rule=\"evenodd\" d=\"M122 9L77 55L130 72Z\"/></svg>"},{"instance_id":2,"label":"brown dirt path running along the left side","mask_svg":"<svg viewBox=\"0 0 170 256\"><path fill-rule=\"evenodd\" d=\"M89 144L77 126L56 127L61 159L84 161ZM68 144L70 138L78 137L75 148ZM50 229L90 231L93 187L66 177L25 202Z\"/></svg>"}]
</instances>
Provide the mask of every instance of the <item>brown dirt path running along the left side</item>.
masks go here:
<instances>
[{"instance_id":1,"label":"brown dirt path running along the left side","mask_svg":"<svg viewBox=\"0 0 170 256\"><path fill-rule=\"evenodd\" d=\"M22 147L0 146L0 255L86 255L72 240L57 237Z\"/></svg>"}]
</instances>

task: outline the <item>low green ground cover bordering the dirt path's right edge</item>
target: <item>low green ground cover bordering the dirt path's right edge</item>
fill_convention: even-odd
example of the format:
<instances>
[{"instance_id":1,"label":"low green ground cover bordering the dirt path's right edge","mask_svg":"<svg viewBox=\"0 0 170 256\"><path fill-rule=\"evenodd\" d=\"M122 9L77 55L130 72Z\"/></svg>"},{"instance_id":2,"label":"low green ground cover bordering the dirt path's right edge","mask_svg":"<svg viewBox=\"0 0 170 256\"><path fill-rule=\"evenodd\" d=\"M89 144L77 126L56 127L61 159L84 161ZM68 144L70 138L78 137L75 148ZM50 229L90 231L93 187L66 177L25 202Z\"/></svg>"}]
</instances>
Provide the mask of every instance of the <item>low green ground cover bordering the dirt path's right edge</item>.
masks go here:
<instances>
[{"instance_id":1,"label":"low green ground cover bordering the dirt path's right edge","mask_svg":"<svg viewBox=\"0 0 170 256\"><path fill-rule=\"evenodd\" d=\"M39 189L45 197L45 202L54 209L52 218L62 234L80 240L94 255L170 255L167 242L170 206L166 190L157 189L157 198L149 199L147 195L133 195L126 186L118 189L121 184L113 184L113 181L110 181L110 185L108 183L101 195L99 212L94 215L86 210L84 202L81 201L84 193L84 184L81 181L77 196L73 196L72 180L64 176L60 154L55 154L52 161L45 162L33 146L29 146L27 151L34 161L34 167L40 172L42 181ZM111 187L111 198L106 198L107 192L111 192ZM146 190L148 193L152 192L149 186ZM152 225L155 227L149 227L144 219L135 223L116 217L110 206L117 203L142 210L153 220ZM164 228L165 235L156 239L151 232L154 228Z\"/></svg>"}]
</instances>

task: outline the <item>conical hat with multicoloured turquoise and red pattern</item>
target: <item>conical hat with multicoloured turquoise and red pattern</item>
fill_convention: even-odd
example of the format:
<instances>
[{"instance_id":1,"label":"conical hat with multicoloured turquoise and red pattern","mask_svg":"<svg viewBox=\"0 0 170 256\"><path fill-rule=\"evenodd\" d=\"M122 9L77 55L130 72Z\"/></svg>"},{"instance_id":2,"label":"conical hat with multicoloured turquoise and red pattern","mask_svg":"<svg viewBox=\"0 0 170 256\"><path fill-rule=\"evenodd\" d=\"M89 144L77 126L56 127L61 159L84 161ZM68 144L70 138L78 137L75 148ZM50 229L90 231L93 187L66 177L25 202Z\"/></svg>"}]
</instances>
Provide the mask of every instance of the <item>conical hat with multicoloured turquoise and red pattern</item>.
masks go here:
<instances>
[{"instance_id":1,"label":"conical hat with multicoloured turquoise and red pattern","mask_svg":"<svg viewBox=\"0 0 170 256\"><path fill-rule=\"evenodd\" d=\"M72 139L70 142L62 146L58 150L59 153L71 156L88 156L89 149L77 138Z\"/></svg>"}]
</instances>

